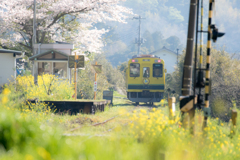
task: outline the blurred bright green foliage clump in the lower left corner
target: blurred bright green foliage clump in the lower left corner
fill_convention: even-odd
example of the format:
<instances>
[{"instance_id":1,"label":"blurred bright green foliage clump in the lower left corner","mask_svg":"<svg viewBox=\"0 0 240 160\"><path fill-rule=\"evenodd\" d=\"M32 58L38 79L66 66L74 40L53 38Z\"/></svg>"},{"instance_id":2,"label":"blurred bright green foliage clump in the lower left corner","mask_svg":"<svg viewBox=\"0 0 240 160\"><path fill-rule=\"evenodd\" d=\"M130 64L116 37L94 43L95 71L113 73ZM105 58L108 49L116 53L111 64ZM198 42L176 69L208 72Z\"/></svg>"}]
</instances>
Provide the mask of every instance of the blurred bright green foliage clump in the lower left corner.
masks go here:
<instances>
[{"instance_id":1,"label":"blurred bright green foliage clump in the lower left corner","mask_svg":"<svg viewBox=\"0 0 240 160\"><path fill-rule=\"evenodd\" d=\"M58 127L37 122L39 115L31 116L31 111L22 114L6 107L6 103L0 103L1 159L50 160L66 156L58 154L69 149ZM74 157L74 153L71 156Z\"/></svg>"}]
</instances>

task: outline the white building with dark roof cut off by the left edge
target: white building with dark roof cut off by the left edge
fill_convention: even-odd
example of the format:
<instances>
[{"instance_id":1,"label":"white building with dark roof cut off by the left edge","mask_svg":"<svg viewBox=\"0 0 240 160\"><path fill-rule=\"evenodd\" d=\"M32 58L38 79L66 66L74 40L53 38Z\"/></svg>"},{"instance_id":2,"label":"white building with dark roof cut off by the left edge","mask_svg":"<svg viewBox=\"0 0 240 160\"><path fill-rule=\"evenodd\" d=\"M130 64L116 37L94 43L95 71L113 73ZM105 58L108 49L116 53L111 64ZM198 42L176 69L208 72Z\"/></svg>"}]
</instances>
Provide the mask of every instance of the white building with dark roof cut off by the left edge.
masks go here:
<instances>
[{"instance_id":1,"label":"white building with dark roof cut off by the left edge","mask_svg":"<svg viewBox=\"0 0 240 160\"><path fill-rule=\"evenodd\" d=\"M16 58L21 51L0 49L0 88L16 78Z\"/></svg>"}]
</instances>

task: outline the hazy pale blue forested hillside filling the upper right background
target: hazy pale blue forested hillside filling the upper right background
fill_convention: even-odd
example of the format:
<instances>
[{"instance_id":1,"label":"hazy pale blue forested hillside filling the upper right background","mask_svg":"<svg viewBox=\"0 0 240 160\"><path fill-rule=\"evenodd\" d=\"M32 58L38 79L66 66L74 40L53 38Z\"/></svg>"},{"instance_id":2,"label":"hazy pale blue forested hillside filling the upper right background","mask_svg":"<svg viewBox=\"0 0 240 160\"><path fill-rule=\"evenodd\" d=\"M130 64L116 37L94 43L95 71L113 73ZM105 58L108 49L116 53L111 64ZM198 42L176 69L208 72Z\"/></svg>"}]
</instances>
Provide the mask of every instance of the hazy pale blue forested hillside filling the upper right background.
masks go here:
<instances>
[{"instance_id":1,"label":"hazy pale blue forested hillside filling the upper right background","mask_svg":"<svg viewBox=\"0 0 240 160\"><path fill-rule=\"evenodd\" d=\"M203 26L204 30L207 30L209 1L204 0L203 2ZM183 46L186 46L190 0L158 0L158 3L161 4L158 14L145 12L146 19L142 20L141 32L160 31L164 38L174 35L179 37ZM146 8L143 6L141 9L133 11L141 15L144 10L146 11ZM215 0L214 10L213 23L220 32L225 32L225 35L212 45L218 49L224 48L229 53L240 54L240 0ZM127 24L119 25L116 30L125 43L130 43L138 36L138 21L129 19ZM207 33L204 34L205 44L206 41Z\"/></svg>"}]
</instances>

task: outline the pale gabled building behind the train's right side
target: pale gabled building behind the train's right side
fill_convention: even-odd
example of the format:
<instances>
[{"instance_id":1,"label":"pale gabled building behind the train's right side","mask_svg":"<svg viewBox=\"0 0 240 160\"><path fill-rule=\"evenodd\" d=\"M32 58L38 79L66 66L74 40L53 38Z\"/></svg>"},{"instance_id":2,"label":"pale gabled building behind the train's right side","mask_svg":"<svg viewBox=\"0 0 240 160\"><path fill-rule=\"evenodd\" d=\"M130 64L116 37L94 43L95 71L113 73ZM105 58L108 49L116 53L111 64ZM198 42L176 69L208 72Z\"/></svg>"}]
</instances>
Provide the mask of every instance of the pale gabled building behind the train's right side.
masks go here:
<instances>
[{"instance_id":1,"label":"pale gabled building behind the train's right side","mask_svg":"<svg viewBox=\"0 0 240 160\"><path fill-rule=\"evenodd\" d=\"M174 66L177 65L178 53L167 49L165 46L159 50L156 50L151 55L156 55L164 60L165 68L167 73L172 73L174 71Z\"/></svg>"}]
</instances>

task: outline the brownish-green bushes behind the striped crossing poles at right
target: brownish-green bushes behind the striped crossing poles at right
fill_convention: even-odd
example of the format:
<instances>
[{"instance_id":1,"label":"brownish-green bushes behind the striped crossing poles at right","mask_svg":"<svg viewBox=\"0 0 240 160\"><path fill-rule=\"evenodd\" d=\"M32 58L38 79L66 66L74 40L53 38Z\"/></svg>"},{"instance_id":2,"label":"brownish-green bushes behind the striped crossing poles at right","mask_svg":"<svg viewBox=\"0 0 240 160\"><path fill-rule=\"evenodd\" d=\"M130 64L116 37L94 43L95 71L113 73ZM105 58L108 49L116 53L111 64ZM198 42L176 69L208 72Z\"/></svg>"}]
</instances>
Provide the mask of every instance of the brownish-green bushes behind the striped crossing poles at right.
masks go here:
<instances>
[{"instance_id":1,"label":"brownish-green bushes behind the striped crossing poles at right","mask_svg":"<svg viewBox=\"0 0 240 160\"><path fill-rule=\"evenodd\" d=\"M206 55L206 51L207 49L206 47L204 47L203 55ZM175 90L178 95L181 95L182 87L181 77L183 71L184 57L185 51L183 51L183 54L179 56L179 62L175 68L175 71L172 74L166 76L166 88L171 88L171 90ZM205 68L206 56L203 56L203 64L204 65L202 67ZM233 55L227 53L226 51L224 51L224 49L222 50L217 50L215 48L211 49L210 107L212 107L214 116L225 119L226 121L229 120L229 112L230 108L233 108L233 101L235 101L237 106L239 106L240 104L239 101L240 72L238 70L238 68L240 67L239 65L240 65L239 60L233 58ZM199 66L199 63L197 63L197 66ZM221 108L224 110L224 112ZM217 110L222 111L216 112Z\"/></svg>"}]
</instances>

